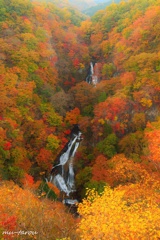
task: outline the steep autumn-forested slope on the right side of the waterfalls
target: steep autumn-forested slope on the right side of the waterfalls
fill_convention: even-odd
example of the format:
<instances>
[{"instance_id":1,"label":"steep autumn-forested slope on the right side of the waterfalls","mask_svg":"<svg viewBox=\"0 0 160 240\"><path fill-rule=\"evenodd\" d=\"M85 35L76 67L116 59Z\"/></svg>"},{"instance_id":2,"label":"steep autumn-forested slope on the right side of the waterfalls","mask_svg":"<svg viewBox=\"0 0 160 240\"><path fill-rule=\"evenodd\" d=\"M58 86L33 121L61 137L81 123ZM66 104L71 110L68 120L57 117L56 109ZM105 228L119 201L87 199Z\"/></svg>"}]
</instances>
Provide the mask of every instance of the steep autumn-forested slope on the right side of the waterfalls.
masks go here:
<instances>
[{"instance_id":1,"label":"steep autumn-forested slope on the right side of the waterfalls","mask_svg":"<svg viewBox=\"0 0 160 240\"><path fill-rule=\"evenodd\" d=\"M82 167L77 174L81 196L84 186L101 189L113 179L112 186L121 183L116 175L120 157L117 164L112 160L117 153L133 162L153 161L159 169L159 16L159 0L128 1L110 5L81 25L100 81L96 87L80 83L70 90L83 116L80 126L86 140L77 160ZM134 181L127 179L123 184Z\"/></svg>"}]
</instances>

